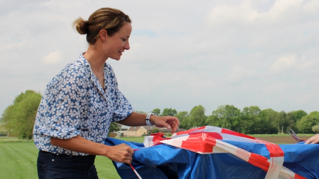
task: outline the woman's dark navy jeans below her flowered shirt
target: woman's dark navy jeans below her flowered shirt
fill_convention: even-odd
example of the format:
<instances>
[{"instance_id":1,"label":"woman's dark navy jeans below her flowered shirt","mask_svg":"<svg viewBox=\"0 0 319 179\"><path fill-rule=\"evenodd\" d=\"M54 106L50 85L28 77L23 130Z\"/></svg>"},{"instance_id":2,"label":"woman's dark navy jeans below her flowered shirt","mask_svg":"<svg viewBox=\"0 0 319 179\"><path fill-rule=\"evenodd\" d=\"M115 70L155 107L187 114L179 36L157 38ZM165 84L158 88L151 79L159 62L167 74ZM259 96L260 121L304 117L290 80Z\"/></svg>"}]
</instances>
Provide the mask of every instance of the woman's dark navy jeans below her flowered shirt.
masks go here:
<instances>
[{"instance_id":1,"label":"woman's dark navy jeans below her flowered shirt","mask_svg":"<svg viewBox=\"0 0 319 179\"><path fill-rule=\"evenodd\" d=\"M39 179L98 179L95 155L75 156L39 151Z\"/></svg>"}]
</instances>

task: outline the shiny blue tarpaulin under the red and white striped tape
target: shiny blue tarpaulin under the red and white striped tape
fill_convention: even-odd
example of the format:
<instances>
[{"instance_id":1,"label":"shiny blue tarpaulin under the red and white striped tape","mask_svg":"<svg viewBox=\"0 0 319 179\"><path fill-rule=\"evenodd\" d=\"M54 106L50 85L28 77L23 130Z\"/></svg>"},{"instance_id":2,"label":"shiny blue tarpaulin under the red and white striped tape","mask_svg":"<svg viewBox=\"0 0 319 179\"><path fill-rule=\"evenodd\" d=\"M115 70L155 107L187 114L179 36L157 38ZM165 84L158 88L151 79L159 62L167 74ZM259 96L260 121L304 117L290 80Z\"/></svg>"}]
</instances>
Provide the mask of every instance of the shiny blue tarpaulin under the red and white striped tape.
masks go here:
<instances>
[{"instance_id":1,"label":"shiny blue tarpaulin under the red and white striped tape","mask_svg":"<svg viewBox=\"0 0 319 179\"><path fill-rule=\"evenodd\" d=\"M270 158L264 144L226 141L251 153ZM107 138L105 145L125 143L133 149L132 166L142 178L265 178L266 172L231 153L199 154L167 144L145 148L134 143ZM303 142L304 143L304 142ZM279 145L285 152L284 167L306 178L319 178L319 145ZM113 162L121 178L138 178L128 164Z\"/></svg>"}]
</instances>

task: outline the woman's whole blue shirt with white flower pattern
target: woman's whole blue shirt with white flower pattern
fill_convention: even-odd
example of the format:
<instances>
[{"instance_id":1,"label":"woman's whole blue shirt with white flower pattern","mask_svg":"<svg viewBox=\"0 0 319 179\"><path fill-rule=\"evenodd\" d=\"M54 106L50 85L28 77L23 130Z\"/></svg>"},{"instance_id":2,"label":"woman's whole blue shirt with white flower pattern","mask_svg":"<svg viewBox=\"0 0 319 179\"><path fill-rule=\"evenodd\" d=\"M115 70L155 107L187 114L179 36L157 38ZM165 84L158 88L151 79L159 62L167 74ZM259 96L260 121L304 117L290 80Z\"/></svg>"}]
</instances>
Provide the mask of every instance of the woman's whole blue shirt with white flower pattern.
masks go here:
<instances>
[{"instance_id":1,"label":"woman's whole blue shirt with white flower pattern","mask_svg":"<svg viewBox=\"0 0 319 179\"><path fill-rule=\"evenodd\" d=\"M130 102L118 90L112 67L105 63L103 72L105 91L81 54L47 84L33 129L33 141L39 150L87 155L51 145L50 137L68 139L80 135L102 144L110 123L133 112Z\"/></svg>"}]
</instances>

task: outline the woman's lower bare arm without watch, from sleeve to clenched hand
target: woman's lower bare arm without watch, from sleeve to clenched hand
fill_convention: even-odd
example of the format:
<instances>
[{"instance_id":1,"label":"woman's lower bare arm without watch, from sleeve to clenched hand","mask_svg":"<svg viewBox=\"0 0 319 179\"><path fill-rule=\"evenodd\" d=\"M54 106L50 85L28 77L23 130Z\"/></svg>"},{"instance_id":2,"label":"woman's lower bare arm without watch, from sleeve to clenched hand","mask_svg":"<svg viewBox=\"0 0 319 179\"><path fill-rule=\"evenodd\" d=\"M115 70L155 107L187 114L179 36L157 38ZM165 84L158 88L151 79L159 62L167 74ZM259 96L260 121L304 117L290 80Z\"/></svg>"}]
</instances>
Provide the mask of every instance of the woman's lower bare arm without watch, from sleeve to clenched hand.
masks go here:
<instances>
[{"instance_id":1,"label":"woman's lower bare arm without watch, from sleeve to clenched hand","mask_svg":"<svg viewBox=\"0 0 319 179\"><path fill-rule=\"evenodd\" d=\"M132 154L134 154L133 149L126 144L107 146L88 141L79 135L69 139L51 137L51 144L75 152L103 155L110 158L112 161L127 164L131 164Z\"/></svg>"}]
</instances>

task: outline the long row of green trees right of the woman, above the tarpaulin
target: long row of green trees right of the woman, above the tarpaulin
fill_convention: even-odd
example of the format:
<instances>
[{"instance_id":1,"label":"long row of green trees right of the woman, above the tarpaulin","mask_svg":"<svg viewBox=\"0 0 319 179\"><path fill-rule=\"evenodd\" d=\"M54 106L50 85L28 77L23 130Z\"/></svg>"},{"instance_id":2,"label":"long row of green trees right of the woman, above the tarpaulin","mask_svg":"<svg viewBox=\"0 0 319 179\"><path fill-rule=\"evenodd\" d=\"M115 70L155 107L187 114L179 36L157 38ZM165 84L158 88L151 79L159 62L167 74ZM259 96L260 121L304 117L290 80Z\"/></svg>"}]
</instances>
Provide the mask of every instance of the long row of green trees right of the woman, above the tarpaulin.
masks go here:
<instances>
[{"instance_id":1,"label":"long row of green trees right of the woman, above the tarpaulin","mask_svg":"<svg viewBox=\"0 0 319 179\"><path fill-rule=\"evenodd\" d=\"M280 111L261 110L258 106L245 107L243 110L234 105L221 105L205 115L201 105L193 107L190 112L165 108L153 111L160 115L176 116L180 120L180 128L190 129L201 126L217 126L244 134L276 134L287 133L289 128L299 133L319 133L319 112L307 113L304 110Z\"/></svg>"}]
</instances>

